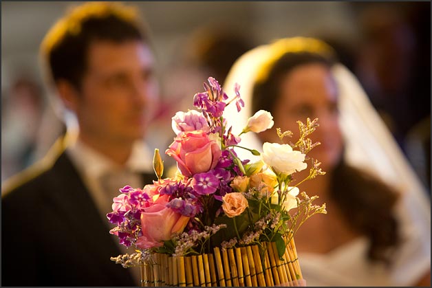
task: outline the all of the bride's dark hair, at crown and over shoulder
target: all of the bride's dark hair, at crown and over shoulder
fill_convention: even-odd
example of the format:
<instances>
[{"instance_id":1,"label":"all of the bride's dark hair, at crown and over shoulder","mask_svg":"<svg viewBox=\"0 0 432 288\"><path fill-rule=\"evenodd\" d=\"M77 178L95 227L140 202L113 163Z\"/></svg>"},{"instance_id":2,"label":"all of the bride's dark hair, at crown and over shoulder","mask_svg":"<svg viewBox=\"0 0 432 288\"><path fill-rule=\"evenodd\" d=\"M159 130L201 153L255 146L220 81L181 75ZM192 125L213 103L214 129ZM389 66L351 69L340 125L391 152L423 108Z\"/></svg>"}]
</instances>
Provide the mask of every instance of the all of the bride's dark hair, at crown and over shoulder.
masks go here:
<instances>
[{"instance_id":1,"label":"all of the bride's dark hair, at crown and over shoulder","mask_svg":"<svg viewBox=\"0 0 432 288\"><path fill-rule=\"evenodd\" d=\"M257 80L252 88L252 114L259 109L274 111L284 76L295 67L310 63L321 63L330 69L336 57L310 51L281 54L266 67L268 71L261 73L265 77ZM332 175L330 197L352 228L369 238L368 258L387 262L387 248L398 243L398 223L392 214L398 194L341 159Z\"/></svg>"}]
</instances>

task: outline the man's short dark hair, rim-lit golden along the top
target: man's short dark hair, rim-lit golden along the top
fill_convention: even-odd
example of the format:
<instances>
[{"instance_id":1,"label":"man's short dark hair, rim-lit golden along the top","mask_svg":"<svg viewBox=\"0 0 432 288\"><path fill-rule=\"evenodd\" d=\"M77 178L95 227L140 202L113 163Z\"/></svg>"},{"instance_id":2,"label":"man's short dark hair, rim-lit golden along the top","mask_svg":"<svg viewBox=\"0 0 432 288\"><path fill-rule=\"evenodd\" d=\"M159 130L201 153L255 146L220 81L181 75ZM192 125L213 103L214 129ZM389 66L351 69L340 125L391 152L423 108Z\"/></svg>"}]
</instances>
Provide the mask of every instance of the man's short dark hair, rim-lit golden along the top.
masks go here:
<instances>
[{"instance_id":1,"label":"man's short dark hair, rim-lit golden along the top","mask_svg":"<svg viewBox=\"0 0 432 288\"><path fill-rule=\"evenodd\" d=\"M137 15L134 8L109 2L85 3L72 9L41 43L41 56L51 80L64 79L80 89L89 47L95 41L148 43Z\"/></svg>"}]
</instances>

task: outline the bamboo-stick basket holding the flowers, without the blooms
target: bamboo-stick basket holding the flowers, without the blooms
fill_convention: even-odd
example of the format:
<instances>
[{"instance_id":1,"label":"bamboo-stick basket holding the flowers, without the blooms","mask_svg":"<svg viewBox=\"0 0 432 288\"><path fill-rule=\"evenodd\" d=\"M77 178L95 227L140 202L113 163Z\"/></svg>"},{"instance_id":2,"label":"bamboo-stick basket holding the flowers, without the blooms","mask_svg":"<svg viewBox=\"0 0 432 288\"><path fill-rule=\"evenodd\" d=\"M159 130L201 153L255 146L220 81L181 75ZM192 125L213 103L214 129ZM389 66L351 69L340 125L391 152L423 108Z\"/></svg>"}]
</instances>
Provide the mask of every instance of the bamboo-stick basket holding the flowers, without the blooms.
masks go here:
<instances>
[{"instance_id":1,"label":"bamboo-stick basket holding the flowers, without the blooms","mask_svg":"<svg viewBox=\"0 0 432 288\"><path fill-rule=\"evenodd\" d=\"M272 287L305 286L294 239L281 258L275 243L220 250L198 256L154 254L153 263L142 265L142 287Z\"/></svg>"}]
</instances>

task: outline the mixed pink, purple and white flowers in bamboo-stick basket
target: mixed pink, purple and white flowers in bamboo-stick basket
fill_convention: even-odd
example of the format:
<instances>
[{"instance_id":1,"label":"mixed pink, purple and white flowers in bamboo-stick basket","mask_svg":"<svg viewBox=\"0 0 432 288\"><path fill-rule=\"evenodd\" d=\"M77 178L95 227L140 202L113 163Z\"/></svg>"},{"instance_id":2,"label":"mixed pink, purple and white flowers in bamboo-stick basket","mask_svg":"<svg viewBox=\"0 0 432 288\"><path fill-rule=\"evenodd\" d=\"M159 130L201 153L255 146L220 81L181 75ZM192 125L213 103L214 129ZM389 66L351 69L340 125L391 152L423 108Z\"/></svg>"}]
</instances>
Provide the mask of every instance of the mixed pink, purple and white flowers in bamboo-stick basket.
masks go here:
<instances>
[{"instance_id":1,"label":"mixed pink, purple and white flowers in bamboo-stick basket","mask_svg":"<svg viewBox=\"0 0 432 288\"><path fill-rule=\"evenodd\" d=\"M306 154L319 144L307 138L317 119L298 122L301 136L295 144L266 142L259 153L241 146L240 136L272 128L272 115L258 111L234 135L224 109L244 107L239 85L231 99L214 78L204 89L193 98L199 111L180 111L172 118L176 137L165 153L177 162L176 175L162 178L164 166L155 149L158 180L144 188L125 186L114 198L107 218L116 227L110 233L136 250L111 260L142 267L143 285L272 286L302 278L294 234L313 214L326 211L325 205L312 203L316 196L299 193L297 186L324 174L320 163L310 159L309 175L296 185L291 182L294 173L307 168ZM276 132L281 140L292 136ZM235 147L261 159L239 159ZM287 275L279 273L281 266Z\"/></svg>"}]
</instances>

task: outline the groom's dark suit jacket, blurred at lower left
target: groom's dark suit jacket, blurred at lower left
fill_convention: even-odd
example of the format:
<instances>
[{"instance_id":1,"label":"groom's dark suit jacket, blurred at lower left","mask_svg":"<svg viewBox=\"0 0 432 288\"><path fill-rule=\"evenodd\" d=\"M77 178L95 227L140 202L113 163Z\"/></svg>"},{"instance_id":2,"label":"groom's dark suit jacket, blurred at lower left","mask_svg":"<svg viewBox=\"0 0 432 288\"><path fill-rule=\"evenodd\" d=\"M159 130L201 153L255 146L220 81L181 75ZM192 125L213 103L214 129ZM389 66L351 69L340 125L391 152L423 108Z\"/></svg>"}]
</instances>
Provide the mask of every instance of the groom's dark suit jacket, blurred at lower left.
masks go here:
<instances>
[{"instance_id":1,"label":"groom's dark suit jacket, blurred at lower left","mask_svg":"<svg viewBox=\"0 0 432 288\"><path fill-rule=\"evenodd\" d=\"M1 217L2 286L135 286L130 270L110 260L121 254L114 225L100 219L64 152L2 196Z\"/></svg>"}]
</instances>

